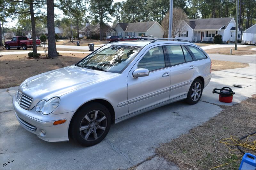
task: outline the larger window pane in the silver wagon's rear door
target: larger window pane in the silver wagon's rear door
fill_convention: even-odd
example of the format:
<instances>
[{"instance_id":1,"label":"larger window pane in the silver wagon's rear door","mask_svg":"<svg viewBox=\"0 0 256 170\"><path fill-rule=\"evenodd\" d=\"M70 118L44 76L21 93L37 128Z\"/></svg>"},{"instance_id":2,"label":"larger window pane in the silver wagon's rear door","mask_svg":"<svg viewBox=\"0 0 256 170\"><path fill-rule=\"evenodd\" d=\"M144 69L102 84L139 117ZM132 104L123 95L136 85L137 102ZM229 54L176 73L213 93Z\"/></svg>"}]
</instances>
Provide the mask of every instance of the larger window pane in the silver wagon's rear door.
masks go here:
<instances>
[{"instance_id":1,"label":"larger window pane in the silver wagon's rear door","mask_svg":"<svg viewBox=\"0 0 256 170\"><path fill-rule=\"evenodd\" d=\"M180 45L169 45L166 46L166 49L170 58L171 66L185 63L184 55Z\"/></svg>"}]
</instances>

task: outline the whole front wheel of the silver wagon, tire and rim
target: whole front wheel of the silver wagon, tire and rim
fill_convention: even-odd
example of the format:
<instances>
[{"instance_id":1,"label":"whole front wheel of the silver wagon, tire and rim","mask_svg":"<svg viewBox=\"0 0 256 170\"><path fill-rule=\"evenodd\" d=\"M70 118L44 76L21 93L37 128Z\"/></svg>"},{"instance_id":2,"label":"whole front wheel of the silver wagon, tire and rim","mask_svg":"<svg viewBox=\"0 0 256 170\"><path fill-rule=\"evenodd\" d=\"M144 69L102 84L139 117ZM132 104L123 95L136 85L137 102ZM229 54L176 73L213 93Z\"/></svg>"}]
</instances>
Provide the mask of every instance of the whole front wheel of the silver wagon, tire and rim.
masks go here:
<instances>
[{"instance_id":1,"label":"whole front wheel of the silver wagon, tire and rim","mask_svg":"<svg viewBox=\"0 0 256 170\"><path fill-rule=\"evenodd\" d=\"M110 126L111 116L107 107L91 103L75 113L70 123L70 134L79 144L92 146L107 136Z\"/></svg>"}]
</instances>

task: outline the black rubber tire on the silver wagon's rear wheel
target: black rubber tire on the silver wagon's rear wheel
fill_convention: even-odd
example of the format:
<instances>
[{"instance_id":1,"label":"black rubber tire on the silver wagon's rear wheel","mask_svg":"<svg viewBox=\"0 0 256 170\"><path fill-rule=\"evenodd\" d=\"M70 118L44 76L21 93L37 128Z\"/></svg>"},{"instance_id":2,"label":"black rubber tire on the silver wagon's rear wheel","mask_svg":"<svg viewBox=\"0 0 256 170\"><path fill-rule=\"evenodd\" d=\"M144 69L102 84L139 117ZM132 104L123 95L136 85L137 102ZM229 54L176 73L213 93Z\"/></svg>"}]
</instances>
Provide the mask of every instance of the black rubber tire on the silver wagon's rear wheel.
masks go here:
<instances>
[{"instance_id":1,"label":"black rubber tire on the silver wagon's rear wheel","mask_svg":"<svg viewBox=\"0 0 256 170\"><path fill-rule=\"evenodd\" d=\"M198 94L198 92L196 92L198 97L195 97L195 93L194 93L194 95L193 95L193 90L195 91L195 89L194 89L195 86L194 86L194 85L195 85L195 84L198 85L198 83L200 84L201 91L200 91L200 94ZM193 89L193 90L192 90L192 89ZM198 88L198 89L196 88L196 91L197 91L197 90L199 90L199 88ZM203 94L203 83L202 83L202 81L201 81L199 78L196 78L196 79L193 81L193 83L191 84L190 88L189 88L186 102L187 102L188 104L194 105L194 104L196 104L196 103L201 99L202 94ZM193 95L193 99L192 99L192 95ZM195 99L194 99L194 97L195 97Z\"/></svg>"}]
</instances>

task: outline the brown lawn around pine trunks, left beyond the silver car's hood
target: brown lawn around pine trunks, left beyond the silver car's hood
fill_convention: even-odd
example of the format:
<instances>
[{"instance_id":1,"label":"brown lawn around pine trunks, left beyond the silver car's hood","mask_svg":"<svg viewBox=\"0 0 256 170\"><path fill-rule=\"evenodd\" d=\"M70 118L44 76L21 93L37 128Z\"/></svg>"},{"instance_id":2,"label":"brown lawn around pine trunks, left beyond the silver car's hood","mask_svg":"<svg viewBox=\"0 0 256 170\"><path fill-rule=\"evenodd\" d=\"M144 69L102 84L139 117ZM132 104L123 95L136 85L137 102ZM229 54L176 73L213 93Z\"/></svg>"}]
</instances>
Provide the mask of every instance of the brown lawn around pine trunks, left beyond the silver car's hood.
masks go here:
<instances>
[{"instance_id":1,"label":"brown lawn around pine trunks, left beyond the silver car's hood","mask_svg":"<svg viewBox=\"0 0 256 170\"><path fill-rule=\"evenodd\" d=\"M0 58L0 88L20 85L26 78L66 67L80 61L86 53L61 53L63 56L45 59L28 58L27 54L4 55Z\"/></svg>"}]
</instances>

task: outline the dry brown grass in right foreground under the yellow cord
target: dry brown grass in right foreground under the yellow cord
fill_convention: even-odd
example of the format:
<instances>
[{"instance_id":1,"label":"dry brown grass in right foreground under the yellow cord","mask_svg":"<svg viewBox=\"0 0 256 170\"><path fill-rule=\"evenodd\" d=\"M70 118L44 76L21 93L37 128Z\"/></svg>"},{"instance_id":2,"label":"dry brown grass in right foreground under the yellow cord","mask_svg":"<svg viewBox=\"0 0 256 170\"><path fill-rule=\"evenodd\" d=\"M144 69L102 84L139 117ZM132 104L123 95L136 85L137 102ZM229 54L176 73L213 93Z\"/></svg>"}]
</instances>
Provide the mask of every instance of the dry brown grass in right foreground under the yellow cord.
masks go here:
<instances>
[{"instance_id":1,"label":"dry brown grass in right foreground under the yellow cord","mask_svg":"<svg viewBox=\"0 0 256 170\"><path fill-rule=\"evenodd\" d=\"M221 113L203 125L190 130L188 134L173 139L169 143L160 144L156 153L176 163L180 169L210 169L231 162L216 169L238 169L241 163L241 152L232 152L225 144L216 140L222 137L243 137L255 132L255 95L233 106L220 106ZM199 145L197 145L195 139ZM213 141L215 141L215 146ZM255 136L250 141L254 141ZM234 147L235 148L235 147ZM244 148L242 148L244 150ZM255 155L255 151L247 151Z\"/></svg>"}]
</instances>

